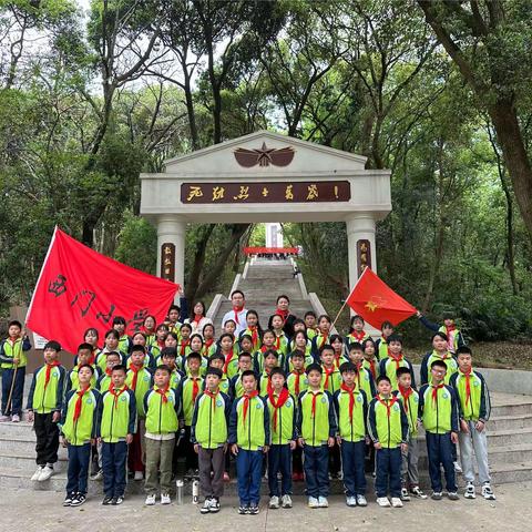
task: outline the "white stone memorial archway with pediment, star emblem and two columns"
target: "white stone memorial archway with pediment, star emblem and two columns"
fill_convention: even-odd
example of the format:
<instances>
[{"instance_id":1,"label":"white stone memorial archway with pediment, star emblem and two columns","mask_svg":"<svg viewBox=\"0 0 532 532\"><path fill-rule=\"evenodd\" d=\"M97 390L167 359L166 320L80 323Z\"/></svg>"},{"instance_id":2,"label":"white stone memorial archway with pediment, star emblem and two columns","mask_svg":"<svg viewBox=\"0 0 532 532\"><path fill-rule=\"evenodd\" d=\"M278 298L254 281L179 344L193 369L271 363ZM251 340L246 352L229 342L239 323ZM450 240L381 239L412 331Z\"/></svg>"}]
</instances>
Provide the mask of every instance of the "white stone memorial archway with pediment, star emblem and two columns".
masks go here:
<instances>
[{"instance_id":1,"label":"white stone memorial archway with pediment, star emblem and two columns","mask_svg":"<svg viewBox=\"0 0 532 532\"><path fill-rule=\"evenodd\" d=\"M375 224L390 172L366 157L269 131L171 158L141 174L141 214L157 227L157 275L183 285L187 223L345 222L352 287L377 270Z\"/></svg>"}]
</instances>

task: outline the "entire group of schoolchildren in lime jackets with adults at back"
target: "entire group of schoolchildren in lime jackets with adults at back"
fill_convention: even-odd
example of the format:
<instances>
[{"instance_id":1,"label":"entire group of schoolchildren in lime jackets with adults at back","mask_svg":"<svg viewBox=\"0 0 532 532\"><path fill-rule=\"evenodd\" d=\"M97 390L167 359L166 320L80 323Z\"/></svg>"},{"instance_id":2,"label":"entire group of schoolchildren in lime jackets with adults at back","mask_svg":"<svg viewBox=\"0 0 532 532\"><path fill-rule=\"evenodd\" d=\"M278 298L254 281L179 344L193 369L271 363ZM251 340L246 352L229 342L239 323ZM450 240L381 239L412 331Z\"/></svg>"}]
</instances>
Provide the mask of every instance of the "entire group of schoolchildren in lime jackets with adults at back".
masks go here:
<instances>
[{"instance_id":1,"label":"entire group of schoolchildren in lime jackets with adults at back","mask_svg":"<svg viewBox=\"0 0 532 532\"><path fill-rule=\"evenodd\" d=\"M418 473L422 426L431 499L442 499L441 469L447 497L459 499L457 444L464 497L475 497L475 460L482 497L495 498L485 432L489 392L451 317L437 326L418 315L436 331L416 387L401 338L388 321L374 341L355 316L342 338L331 332L328 316L308 311L298 319L282 309L263 330L256 311L243 313L244 294L232 296L241 305L234 319L224 317L217 339L198 303L194 319L180 323L180 308L172 306L164 324L149 316L132 338L117 317L103 349L96 329L89 329L70 371L59 362L61 346L48 341L27 407L37 434L32 480L54 474L61 437L69 456L66 507L85 501L91 457L92 478L103 477L102 504L123 502L127 470L134 480L145 479L146 505L156 503L157 492L168 504L176 458L184 454L187 477L200 478L202 513L219 511L231 457L241 514L259 512L265 475L270 509L291 508L293 481L303 480L308 507L327 508L335 478L342 479L348 507L366 507L368 466L377 503L400 508L411 497L427 499ZM278 309L279 299L287 307L288 297L279 296ZM2 421L20 420L18 379L30 347L21 324L11 321L0 345Z\"/></svg>"}]
</instances>

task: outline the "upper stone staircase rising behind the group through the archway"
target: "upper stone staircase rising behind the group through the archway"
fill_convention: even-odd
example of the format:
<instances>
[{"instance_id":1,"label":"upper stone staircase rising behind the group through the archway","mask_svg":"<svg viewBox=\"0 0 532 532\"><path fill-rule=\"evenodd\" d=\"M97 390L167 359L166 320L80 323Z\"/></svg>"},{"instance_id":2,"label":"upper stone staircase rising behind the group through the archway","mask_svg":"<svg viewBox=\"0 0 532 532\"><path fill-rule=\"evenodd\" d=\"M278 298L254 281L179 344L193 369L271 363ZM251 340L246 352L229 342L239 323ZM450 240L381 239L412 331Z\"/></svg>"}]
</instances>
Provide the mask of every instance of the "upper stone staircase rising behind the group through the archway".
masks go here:
<instances>
[{"instance_id":1,"label":"upper stone staircase rising behind the group through the archway","mask_svg":"<svg viewBox=\"0 0 532 532\"><path fill-rule=\"evenodd\" d=\"M267 327L269 316L275 313L275 301L282 294L290 298L290 313L297 317L303 318L307 310L316 310L309 296L303 294L293 270L293 263L289 259L253 259L247 266L245 277L233 287L246 295L246 308L258 313L263 329ZM216 327L222 323L224 314L231 309L231 300L224 297L214 316L211 316Z\"/></svg>"}]
</instances>

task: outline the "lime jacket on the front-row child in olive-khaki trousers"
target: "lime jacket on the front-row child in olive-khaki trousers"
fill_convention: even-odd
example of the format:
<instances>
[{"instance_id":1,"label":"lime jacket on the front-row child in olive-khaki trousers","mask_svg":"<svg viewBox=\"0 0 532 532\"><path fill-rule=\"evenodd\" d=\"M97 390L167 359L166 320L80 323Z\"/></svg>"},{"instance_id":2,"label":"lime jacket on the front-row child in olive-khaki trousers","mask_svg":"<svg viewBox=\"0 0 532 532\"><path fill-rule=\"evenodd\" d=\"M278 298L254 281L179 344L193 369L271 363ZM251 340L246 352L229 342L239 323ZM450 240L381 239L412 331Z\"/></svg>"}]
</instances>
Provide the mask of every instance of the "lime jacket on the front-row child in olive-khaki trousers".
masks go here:
<instances>
[{"instance_id":1,"label":"lime jacket on the front-row child in olive-khaki trousers","mask_svg":"<svg viewBox=\"0 0 532 532\"><path fill-rule=\"evenodd\" d=\"M154 386L144 396L144 411L146 412L146 432L151 434L172 434L178 429L180 397L177 391L168 388L165 392L166 401Z\"/></svg>"}]
</instances>

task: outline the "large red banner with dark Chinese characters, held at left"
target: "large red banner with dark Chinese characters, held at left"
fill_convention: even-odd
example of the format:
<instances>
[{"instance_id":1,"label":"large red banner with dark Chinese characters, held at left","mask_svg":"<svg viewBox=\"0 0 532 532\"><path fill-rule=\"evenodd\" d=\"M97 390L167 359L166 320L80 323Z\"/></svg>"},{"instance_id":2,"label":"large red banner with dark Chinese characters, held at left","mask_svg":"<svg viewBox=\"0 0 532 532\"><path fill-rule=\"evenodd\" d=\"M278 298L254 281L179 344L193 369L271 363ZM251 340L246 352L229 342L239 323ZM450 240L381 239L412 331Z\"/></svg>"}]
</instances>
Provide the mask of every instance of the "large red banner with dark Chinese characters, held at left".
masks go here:
<instances>
[{"instance_id":1,"label":"large red banner with dark Chinese characters, held at left","mask_svg":"<svg viewBox=\"0 0 532 532\"><path fill-rule=\"evenodd\" d=\"M144 318L163 321L180 286L94 252L55 227L28 309L28 328L75 352L89 327L100 332L123 316L127 332Z\"/></svg>"}]
</instances>

